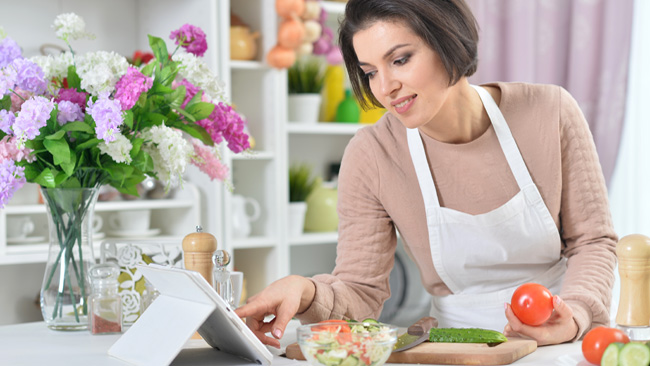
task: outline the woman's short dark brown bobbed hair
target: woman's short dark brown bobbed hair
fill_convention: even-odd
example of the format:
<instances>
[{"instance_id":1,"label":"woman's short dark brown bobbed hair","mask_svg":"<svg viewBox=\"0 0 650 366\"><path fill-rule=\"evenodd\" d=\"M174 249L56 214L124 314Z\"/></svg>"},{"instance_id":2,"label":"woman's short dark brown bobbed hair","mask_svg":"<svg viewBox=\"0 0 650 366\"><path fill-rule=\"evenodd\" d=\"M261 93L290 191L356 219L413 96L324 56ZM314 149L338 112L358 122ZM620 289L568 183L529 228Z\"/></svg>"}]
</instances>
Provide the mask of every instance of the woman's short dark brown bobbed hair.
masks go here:
<instances>
[{"instance_id":1,"label":"woman's short dark brown bobbed hair","mask_svg":"<svg viewBox=\"0 0 650 366\"><path fill-rule=\"evenodd\" d=\"M368 101L382 105L370 91L352 37L377 21L401 22L424 40L440 57L449 85L476 72L478 26L464 0L348 0L339 45L352 90L363 108L369 107Z\"/></svg>"}]
</instances>

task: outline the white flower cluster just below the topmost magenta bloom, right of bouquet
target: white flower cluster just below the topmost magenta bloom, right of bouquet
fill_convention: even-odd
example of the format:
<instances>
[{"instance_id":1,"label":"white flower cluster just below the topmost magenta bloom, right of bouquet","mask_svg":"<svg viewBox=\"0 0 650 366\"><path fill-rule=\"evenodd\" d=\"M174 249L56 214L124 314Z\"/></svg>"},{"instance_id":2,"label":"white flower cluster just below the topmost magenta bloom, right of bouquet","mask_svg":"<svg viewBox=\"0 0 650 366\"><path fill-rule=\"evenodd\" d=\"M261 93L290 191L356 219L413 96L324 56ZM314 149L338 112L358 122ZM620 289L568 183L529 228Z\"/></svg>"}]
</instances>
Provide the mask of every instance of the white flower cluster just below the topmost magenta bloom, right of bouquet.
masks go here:
<instances>
[{"instance_id":1,"label":"white flower cluster just below the topmost magenta bloom, right of bouquet","mask_svg":"<svg viewBox=\"0 0 650 366\"><path fill-rule=\"evenodd\" d=\"M191 53L178 53L172 60L179 61L179 73L190 83L203 90L211 101L224 100L224 83L205 62Z\"/></svg>"}]
</instances>

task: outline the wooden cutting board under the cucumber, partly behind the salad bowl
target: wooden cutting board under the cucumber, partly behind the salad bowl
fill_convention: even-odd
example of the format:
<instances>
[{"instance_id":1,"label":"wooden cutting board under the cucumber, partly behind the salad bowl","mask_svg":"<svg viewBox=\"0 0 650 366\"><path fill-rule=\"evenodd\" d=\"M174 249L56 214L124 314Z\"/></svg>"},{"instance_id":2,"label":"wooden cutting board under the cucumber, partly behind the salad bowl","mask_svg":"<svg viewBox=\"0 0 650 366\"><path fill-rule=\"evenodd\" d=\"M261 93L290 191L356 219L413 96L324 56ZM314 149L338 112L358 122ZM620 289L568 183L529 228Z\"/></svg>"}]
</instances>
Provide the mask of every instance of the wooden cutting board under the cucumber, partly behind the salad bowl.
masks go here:
<instances>
[{"instance_id":1,"label":"wooden cutting board under the cucumber, partly behind the salad bowl","mask_svg":"<svg viewBox=\"0 0 650 366\"><path fill-rule=\"evenodd\" d=\"M431 343L390 355L387 363L423 363L439 365L509 365L537 349L537 342L509 338L490 347L484 343ZM297 343L287 346L287 358L304 360Z\"/></svg>"}]
</instances>

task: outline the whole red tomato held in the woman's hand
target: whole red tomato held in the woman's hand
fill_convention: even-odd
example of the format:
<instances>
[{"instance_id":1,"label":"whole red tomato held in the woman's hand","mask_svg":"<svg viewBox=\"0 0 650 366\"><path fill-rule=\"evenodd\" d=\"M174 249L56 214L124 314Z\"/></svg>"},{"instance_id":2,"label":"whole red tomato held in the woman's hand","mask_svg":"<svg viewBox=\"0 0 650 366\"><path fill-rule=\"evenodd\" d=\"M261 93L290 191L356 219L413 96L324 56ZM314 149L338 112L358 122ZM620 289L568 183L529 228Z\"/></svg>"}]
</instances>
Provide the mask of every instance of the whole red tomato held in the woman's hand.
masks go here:
<instances>
[{"instance_id":1,"label":"whole red tomato held in the woman's hand","mask_svg":"<svg viewBox=\"0 0 650 366\"><path fill-rule=\"evenodd\" d=\"M538 283L524 283L512 294L512 311L522 323L538 326L553 313L553 295Z\"/></svg>"}]
</instances>

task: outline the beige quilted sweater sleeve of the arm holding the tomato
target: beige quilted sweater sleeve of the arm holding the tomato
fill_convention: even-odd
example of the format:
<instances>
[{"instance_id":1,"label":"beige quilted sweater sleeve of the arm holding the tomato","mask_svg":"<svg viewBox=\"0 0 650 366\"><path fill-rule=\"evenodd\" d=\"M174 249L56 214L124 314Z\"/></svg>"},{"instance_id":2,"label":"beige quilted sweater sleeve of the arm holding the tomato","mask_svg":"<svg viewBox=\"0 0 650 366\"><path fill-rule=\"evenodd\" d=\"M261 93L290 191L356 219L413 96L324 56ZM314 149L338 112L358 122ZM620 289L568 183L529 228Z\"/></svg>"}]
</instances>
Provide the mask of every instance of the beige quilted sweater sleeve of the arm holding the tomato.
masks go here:
<instances>
[{"instance_id":1,"label":"beige quilted sweater sleeve of the arm holding the tomato","mask_svg":"<svg viewBox=\"0 0 650 366\"><path fill-rule=\"evenodd\" d=\"M574 312L581 338L610 323L616 242L605 179L577 102L560 88L561 234L567 272L560 296Z\"/></svg>"}]
</instances>

